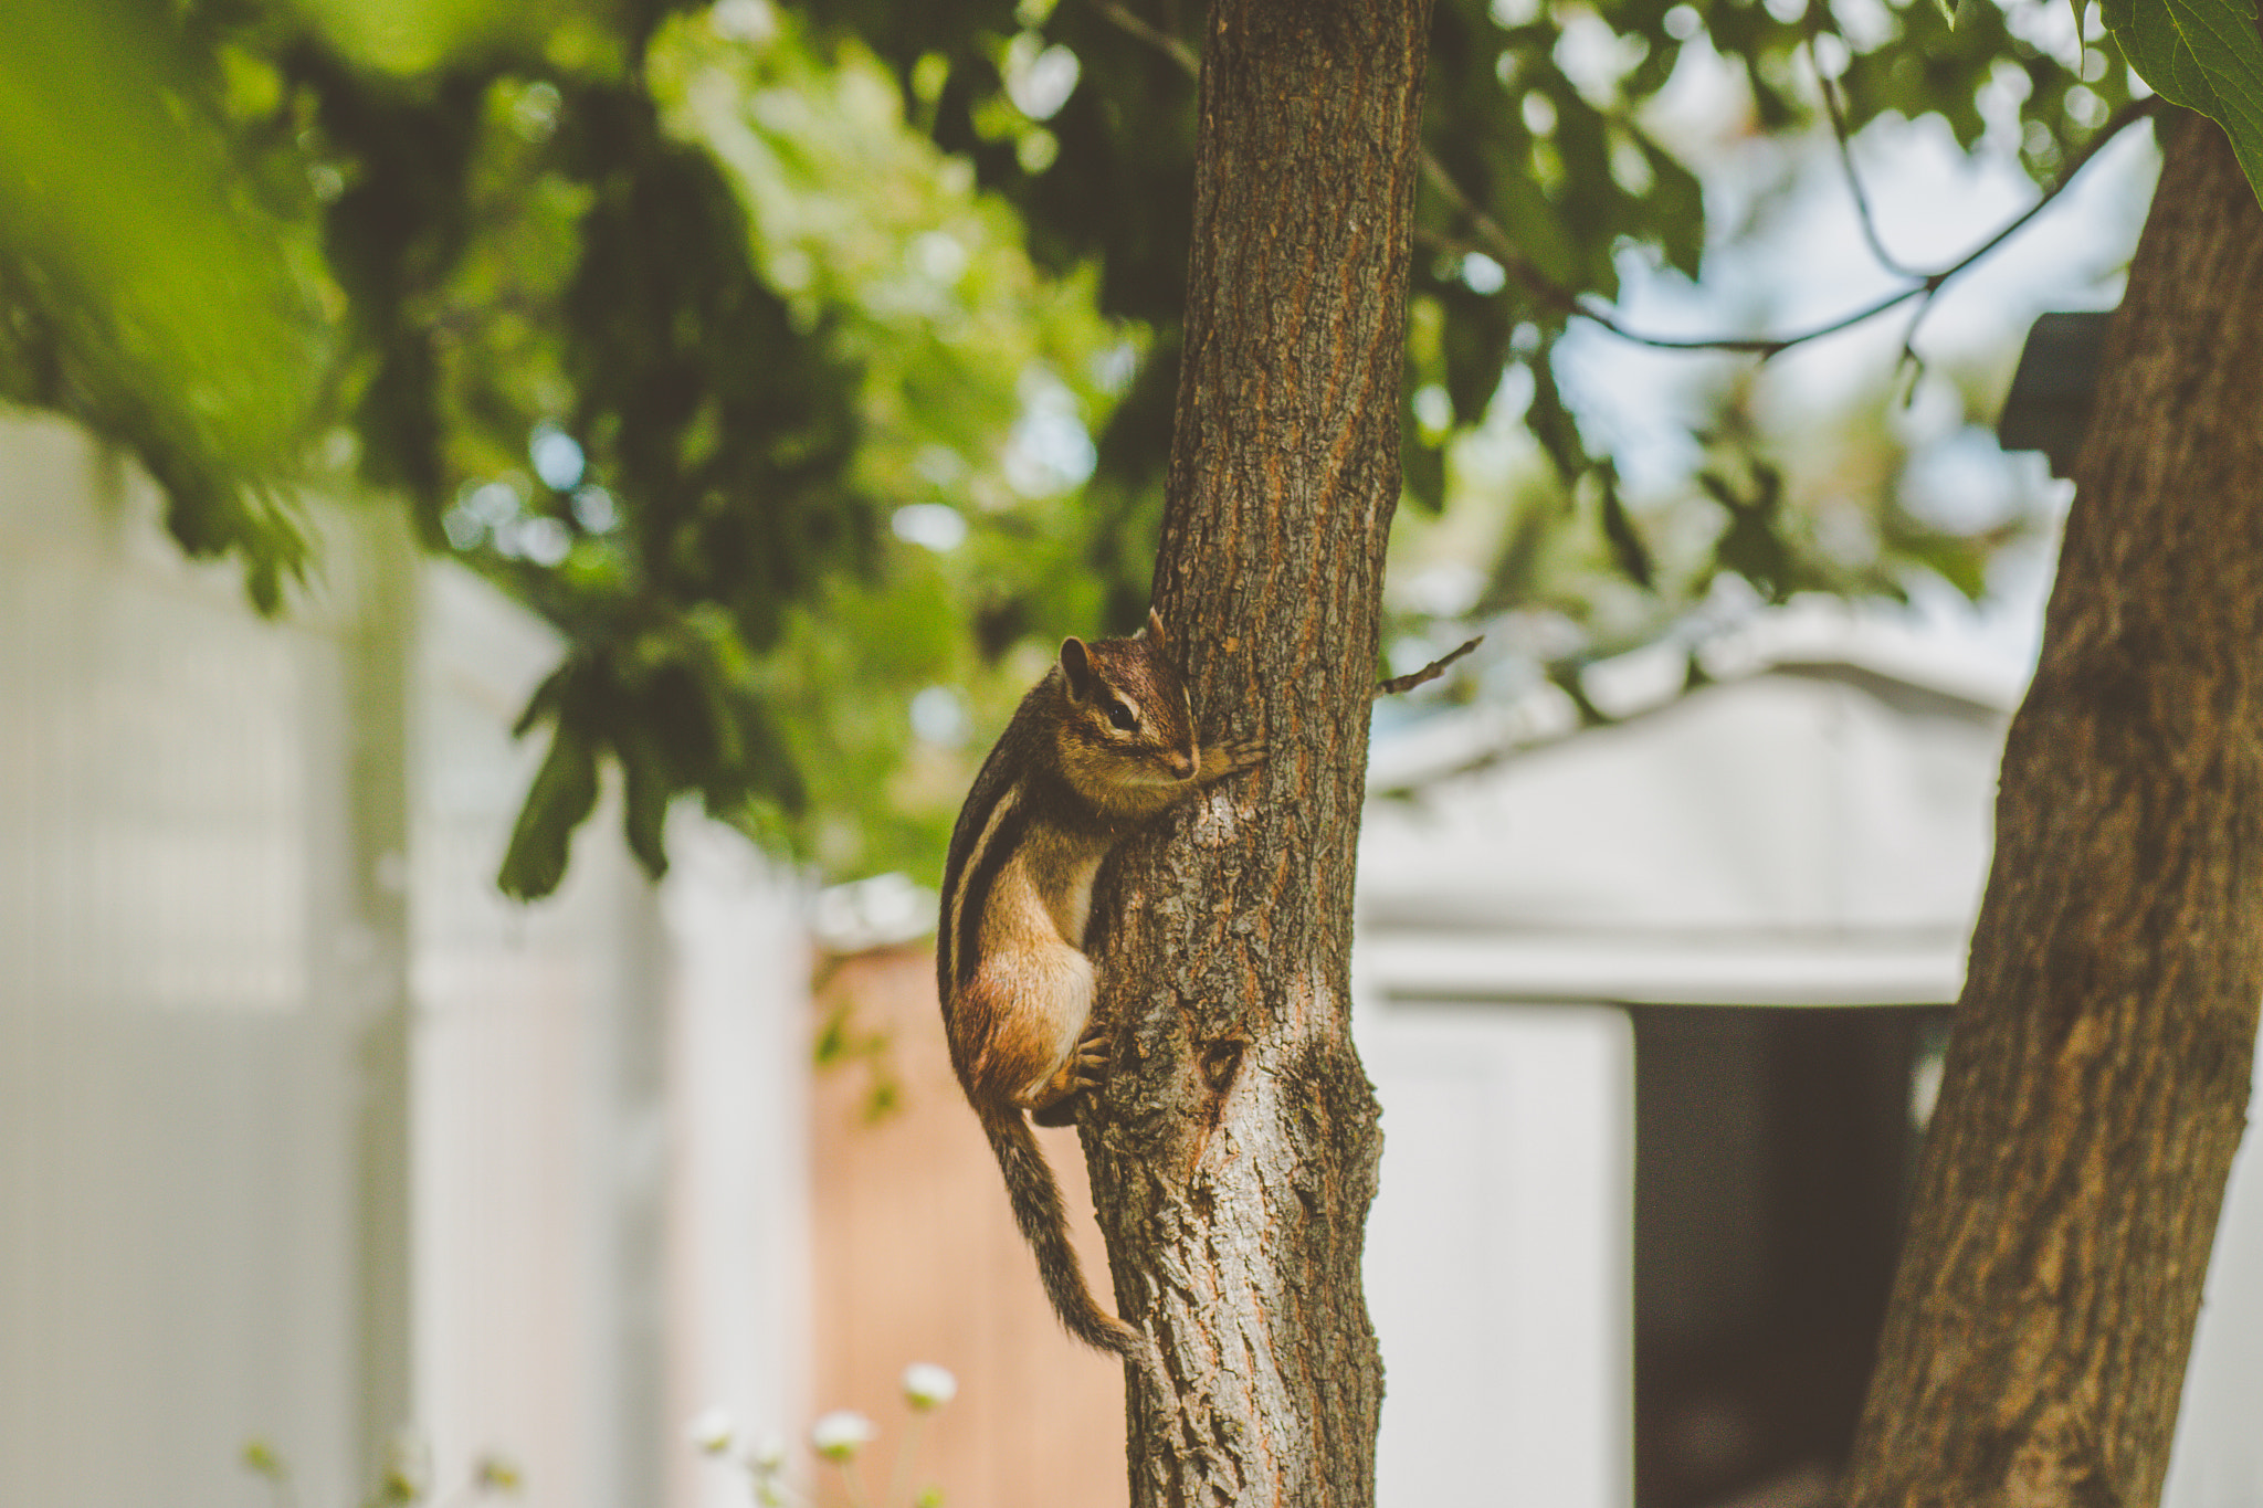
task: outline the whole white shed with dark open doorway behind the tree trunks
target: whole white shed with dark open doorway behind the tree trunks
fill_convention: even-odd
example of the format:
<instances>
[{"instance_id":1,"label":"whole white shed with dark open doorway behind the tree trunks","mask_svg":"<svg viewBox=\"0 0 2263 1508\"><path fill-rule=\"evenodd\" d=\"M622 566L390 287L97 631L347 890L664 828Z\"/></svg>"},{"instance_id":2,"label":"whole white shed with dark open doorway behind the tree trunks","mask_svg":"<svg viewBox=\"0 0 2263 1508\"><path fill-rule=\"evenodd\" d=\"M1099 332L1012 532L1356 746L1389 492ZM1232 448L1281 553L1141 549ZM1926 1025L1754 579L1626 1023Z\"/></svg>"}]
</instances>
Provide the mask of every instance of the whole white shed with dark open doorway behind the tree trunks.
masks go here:
<instances>
[{"instance_id":1,"label":"whole white shed with dark open doorway behind the tree trunks","mask_svg":"<svg viewBox=\"0 0 2263 1508\"><path fill-rule=\"evenodd\" d=\"M1541 692L1378 733L1353 981L1385 1128L1385 1508L1829 1488L2021 674L1833 606L1704 669L1598 667L1607 726ZM2247 1185L2256 1158L2177 1508L2263 1492L2236 1427L2263 1402Z\"/></svg>"}]
</instances>

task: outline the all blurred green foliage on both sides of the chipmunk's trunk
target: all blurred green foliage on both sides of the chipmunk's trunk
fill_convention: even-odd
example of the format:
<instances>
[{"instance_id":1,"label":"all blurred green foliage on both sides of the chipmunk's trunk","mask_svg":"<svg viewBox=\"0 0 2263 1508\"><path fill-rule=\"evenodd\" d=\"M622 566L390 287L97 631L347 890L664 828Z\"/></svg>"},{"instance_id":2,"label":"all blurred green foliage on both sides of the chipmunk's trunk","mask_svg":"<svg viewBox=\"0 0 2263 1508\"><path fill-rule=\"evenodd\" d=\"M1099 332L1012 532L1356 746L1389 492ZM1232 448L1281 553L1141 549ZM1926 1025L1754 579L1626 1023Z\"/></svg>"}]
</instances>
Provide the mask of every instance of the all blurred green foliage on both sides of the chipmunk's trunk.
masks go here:
<instances>
[{"instance_id":1,"label":"all blurred green foliage on both sides of the chipmunk's trunk","mask_svg":"<svg viewBox=\"0 0 2263 1508\"><path fill-rule=\"evenodd\" d=\"M1724 233L1657 124L1690 47L1758 133L1815 127L1815 50L1851 129L1971 147L2010 93L2037 176L2127 95L1962 9L1439 0L1426 140L1466 203L1419 203L1405 475L1432 515L1498 493L1475 610L1593 653L1722 574L1978 590L1998 536L1885 482L1822 549L1733 389L1681 493L1632 497L1555 369L1625 258L1695 276ZM131 450L263 608L292 497L351 473L554 624L509 893L554 889L606 769L654 873L683 794L833 877L932 873L1050 642L1145 610L1199 41L1177 0L36 0L0 32L0 398ZM1543 475L1453 461L1503 416Z\"/></svg>"}]
</instances>

